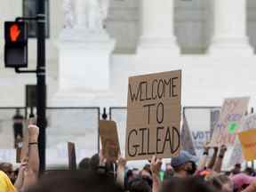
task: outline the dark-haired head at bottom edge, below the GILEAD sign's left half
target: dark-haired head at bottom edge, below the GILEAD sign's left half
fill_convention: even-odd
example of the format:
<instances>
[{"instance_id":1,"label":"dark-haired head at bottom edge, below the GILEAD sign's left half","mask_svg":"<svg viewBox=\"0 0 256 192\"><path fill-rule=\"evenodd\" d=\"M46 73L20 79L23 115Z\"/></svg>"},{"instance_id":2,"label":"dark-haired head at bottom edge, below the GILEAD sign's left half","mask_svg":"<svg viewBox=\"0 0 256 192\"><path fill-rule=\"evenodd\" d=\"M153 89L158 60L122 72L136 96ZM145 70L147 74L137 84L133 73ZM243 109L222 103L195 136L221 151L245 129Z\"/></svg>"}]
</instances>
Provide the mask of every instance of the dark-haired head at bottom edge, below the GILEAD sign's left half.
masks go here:
<instances>
[{"instance_id":1,"label":"dark-haired head at bottom edge, below the GILEAD sign's left half","mask_svg":"<svg viewBox=\"0 0 256 192\"><path fill-rule=\"evenodd\" d=\"M151 187L152 183L150 185L148 180L145 180L142 177L136 177L128 183L129 192L150 192Z\"/></svg>"}]
</instances>

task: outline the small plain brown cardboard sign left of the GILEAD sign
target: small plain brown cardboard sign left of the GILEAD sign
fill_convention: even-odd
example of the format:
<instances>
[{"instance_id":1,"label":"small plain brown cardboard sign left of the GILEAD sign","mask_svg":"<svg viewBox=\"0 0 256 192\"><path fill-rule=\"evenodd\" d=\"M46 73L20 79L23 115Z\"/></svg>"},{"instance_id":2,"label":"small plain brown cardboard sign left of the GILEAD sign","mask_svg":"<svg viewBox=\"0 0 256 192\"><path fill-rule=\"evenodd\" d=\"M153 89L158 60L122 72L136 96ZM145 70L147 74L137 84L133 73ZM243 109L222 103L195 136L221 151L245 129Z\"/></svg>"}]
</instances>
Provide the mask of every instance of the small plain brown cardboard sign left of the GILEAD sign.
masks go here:
<instances>
[{"instance_id":1,"label":"small plain brown cardboard sign left of the GILEAD sign","mask_svg":"<svg viewBox=\"0 0 256 192\"><path fill-rule=\"evenodd\" d=\"M103 156L110 162L116 162L118 155L120 154L116 122L106 120L100 121L100 141Z\"/></svg>"}]
</instances>

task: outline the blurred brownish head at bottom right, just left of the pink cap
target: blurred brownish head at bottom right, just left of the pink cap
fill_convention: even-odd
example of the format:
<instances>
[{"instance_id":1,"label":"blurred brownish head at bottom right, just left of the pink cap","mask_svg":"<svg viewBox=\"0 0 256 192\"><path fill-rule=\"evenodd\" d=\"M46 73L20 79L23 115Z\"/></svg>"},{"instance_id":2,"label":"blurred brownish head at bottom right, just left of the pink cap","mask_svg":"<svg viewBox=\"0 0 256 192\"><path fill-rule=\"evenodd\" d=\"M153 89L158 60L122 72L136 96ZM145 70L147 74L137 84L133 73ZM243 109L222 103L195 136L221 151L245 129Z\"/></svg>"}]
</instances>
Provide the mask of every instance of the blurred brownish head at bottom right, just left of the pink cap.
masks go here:
<instances>
[{"instance_id":1,"label":"blurred brownish head at bottom right, just left of the pink cap","mask_svg":"<svg viewBox=\"0 0 256 192\"><path fill-rule=\"evenodd\" d=\"M232 180L228 178L227 175L217 172L212 172L205 177L205 180L213 188L222 192L233 192L234 185Z\"/></svg>"}]
</instances>

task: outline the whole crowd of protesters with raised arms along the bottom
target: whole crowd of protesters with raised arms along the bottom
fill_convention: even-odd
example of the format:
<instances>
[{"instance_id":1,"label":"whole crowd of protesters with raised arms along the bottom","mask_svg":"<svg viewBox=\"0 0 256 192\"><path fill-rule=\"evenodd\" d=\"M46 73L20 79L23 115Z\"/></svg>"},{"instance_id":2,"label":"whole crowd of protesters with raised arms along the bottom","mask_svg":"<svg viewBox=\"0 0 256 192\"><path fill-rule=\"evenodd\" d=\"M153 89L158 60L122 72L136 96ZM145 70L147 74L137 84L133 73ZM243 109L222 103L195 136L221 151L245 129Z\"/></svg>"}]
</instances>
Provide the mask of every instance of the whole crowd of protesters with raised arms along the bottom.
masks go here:
<instances>
[{"instance_id":1,"label":"whole crowd of protesters with raised arms along the bottom","mask_svg":"<svg viewBox=\"0 0 256 192\"><path fill-rule=\"evenodd\" d=\"M256 177L252 168L242 170L236 164L230 172L221 172L227 148L204 146L200 157L181 150L172 157L163 172L162 159L153 156L142 170L128 169L126 160L108 162L100 154L84 158L76 171L44 172L39 175L37 140L39 128L28 126L28 154L20 168L0 163L0 192L69 192L69 191L128 191L128 192L256 192ZM212 150L212 151L210 151ZM212 156L210 156L212 154Z\"/></svg>"}]
</instances>

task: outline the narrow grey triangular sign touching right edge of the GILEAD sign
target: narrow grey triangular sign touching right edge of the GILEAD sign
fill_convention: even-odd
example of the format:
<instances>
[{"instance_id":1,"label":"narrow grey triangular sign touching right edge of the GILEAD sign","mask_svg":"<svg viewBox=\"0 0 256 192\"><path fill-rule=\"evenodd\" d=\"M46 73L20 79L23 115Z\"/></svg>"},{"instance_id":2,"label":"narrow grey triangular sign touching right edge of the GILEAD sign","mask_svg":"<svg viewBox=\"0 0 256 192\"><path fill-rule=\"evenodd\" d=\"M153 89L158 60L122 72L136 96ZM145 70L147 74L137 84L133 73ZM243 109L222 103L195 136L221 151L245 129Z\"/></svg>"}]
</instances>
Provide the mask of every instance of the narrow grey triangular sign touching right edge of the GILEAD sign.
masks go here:
<instances>
[{"instance_id":1,"label":"narrow grey triangular sign touching right edge of the GILEAD sign","mask_svg":"<svg viewBox=\"0 0 256 192\"><path fill-rule=\"evenodd\" d=\"M196 156L196 150L194 148L191 132L188 127L188 121L184 113L183 113L183 124L181 128L180 140L181 140L181 148L183 150L188 151L191 155Z\"/></svg>"}]
</instances>

